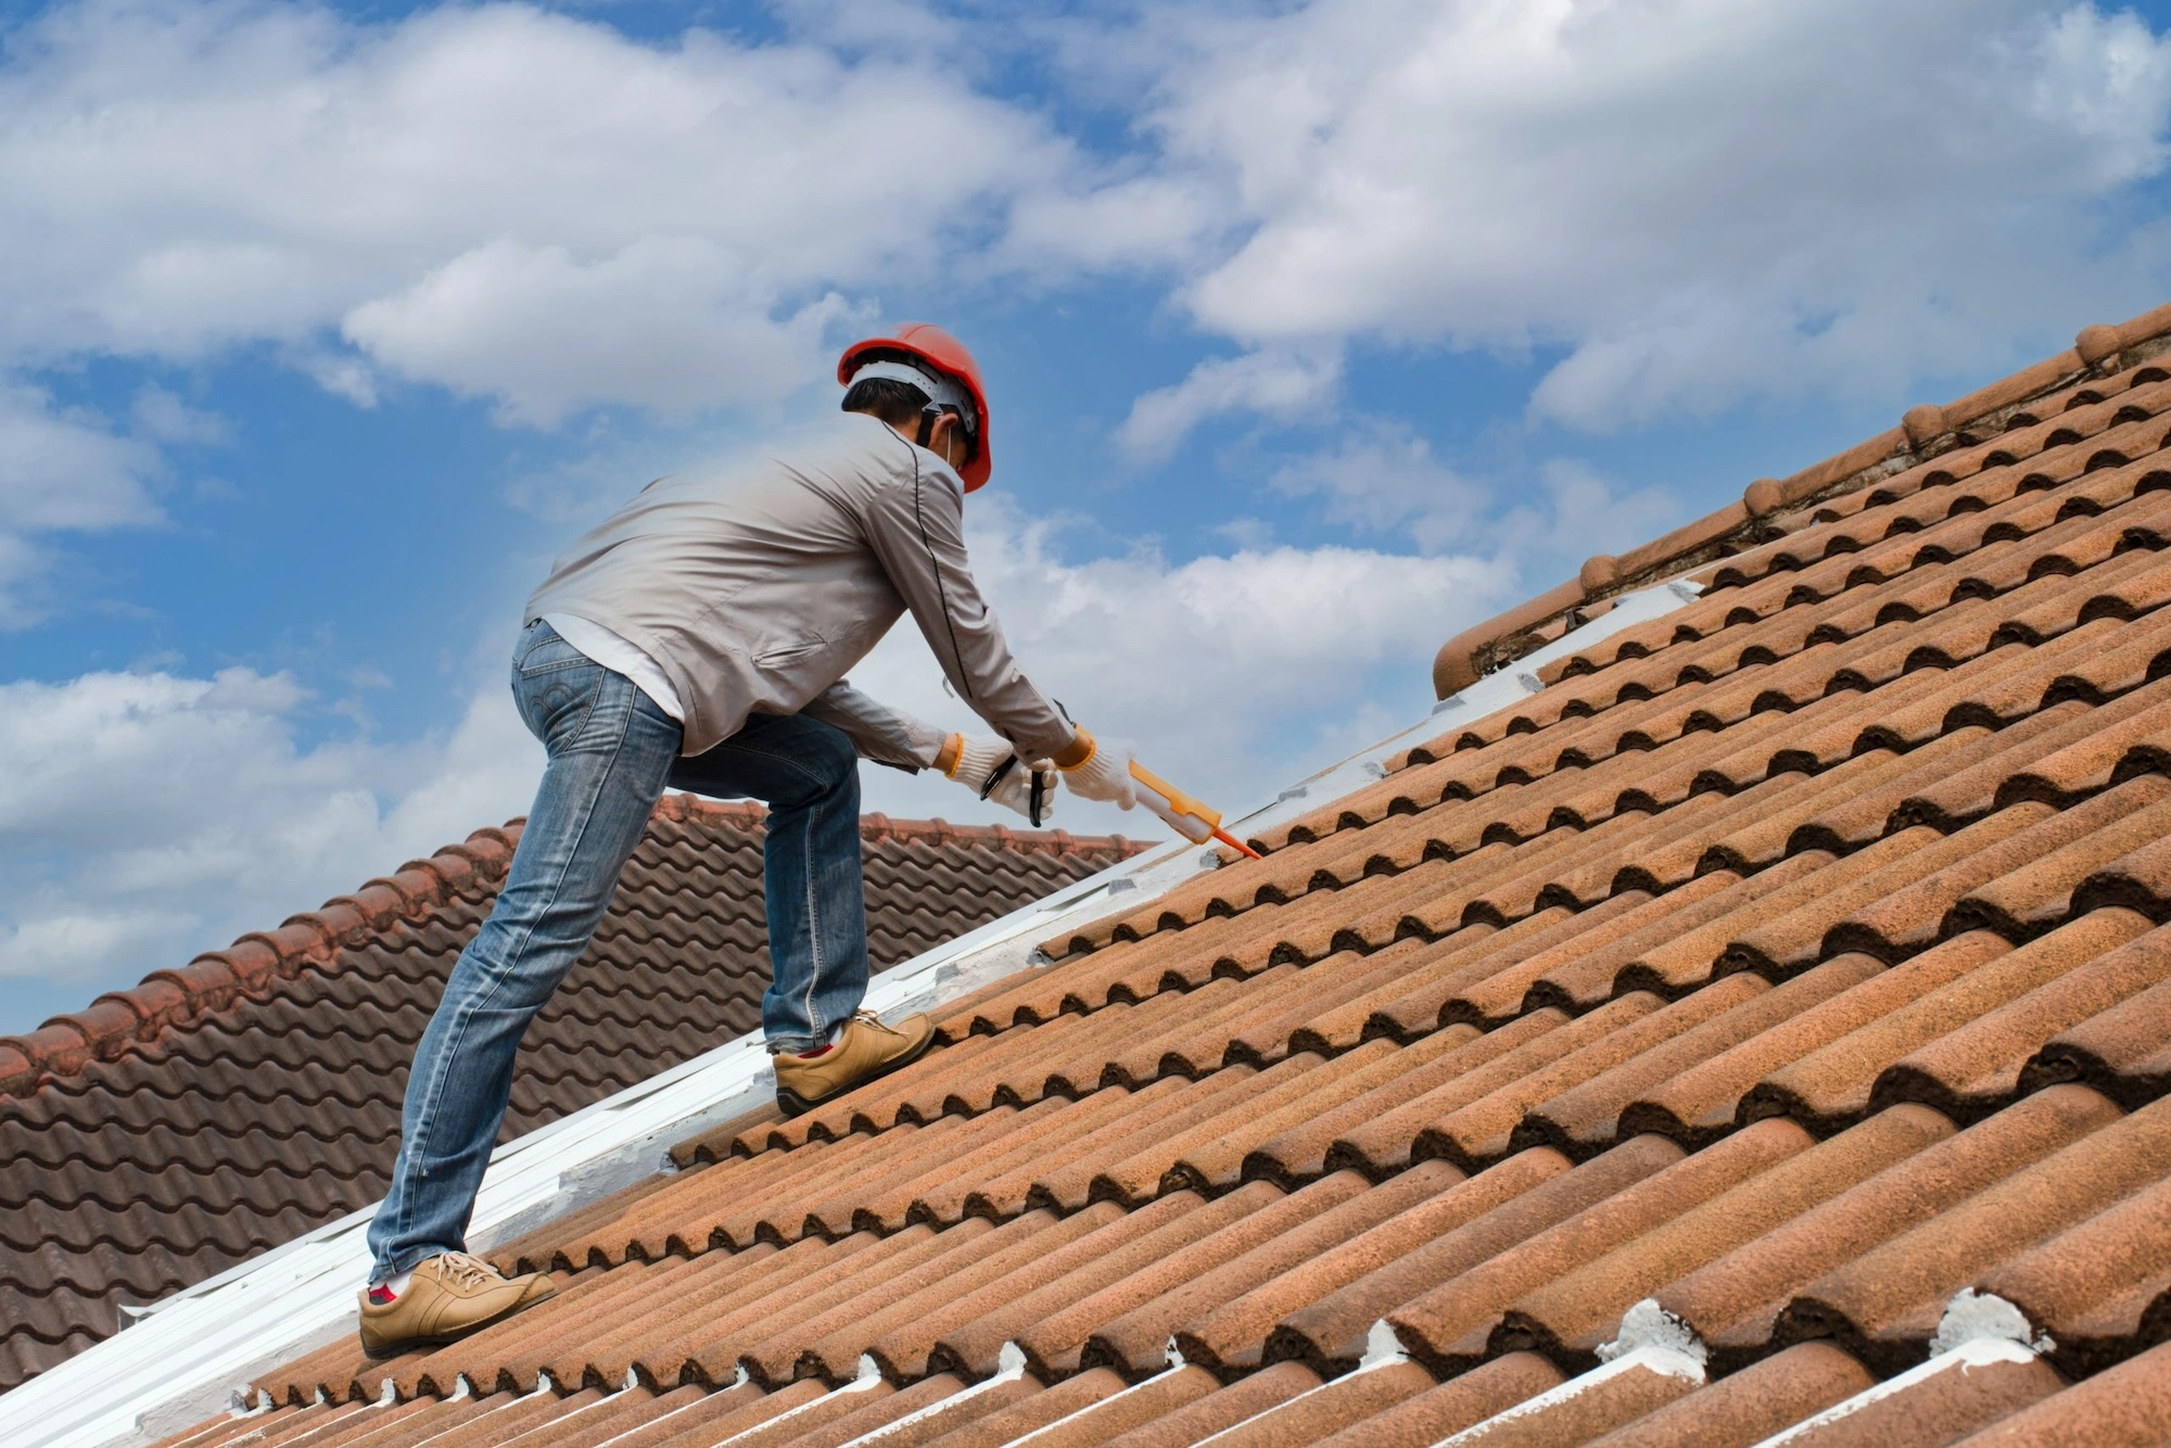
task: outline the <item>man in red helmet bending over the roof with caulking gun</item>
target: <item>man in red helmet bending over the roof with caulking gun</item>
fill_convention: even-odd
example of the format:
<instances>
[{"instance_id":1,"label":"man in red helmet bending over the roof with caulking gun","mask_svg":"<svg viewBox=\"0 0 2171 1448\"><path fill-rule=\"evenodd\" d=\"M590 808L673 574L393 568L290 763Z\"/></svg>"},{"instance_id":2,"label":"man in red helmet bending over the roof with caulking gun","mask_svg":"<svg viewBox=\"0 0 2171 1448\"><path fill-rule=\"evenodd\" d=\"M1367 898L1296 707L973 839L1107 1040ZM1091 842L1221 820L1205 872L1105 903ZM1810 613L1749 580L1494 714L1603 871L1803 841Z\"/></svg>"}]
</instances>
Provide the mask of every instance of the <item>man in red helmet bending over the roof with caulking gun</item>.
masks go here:
<instances>
[{"instance_id":1,"label":"man in red helmet bending over the roof with caulking gun","mask_svg":"<svg viewBox=\"0 0 2171 1448\"><path fill-rule=\"evenodd\" d=\"M664 788L769 803L775 970L762 1036L777 1105L803 1112L918 1059L927 1016L860 1012L862 758L940 769L1038 814L1053 771L1131 808L1129 749L1075 729L1012 662L964 549L988 482L988 395L934 326L838 363L842 410L714 475L651 482L528 599L512 695L547 764L506 886L445 983L402 1112L360 1337L371 1357L452 1342L551 1296L465 1250L530 1018L580 960ZM912 610L990 736L936 729L845 682ZM1051 771L1053 766L1053 771Z\"/></svg>"}]
</instances>

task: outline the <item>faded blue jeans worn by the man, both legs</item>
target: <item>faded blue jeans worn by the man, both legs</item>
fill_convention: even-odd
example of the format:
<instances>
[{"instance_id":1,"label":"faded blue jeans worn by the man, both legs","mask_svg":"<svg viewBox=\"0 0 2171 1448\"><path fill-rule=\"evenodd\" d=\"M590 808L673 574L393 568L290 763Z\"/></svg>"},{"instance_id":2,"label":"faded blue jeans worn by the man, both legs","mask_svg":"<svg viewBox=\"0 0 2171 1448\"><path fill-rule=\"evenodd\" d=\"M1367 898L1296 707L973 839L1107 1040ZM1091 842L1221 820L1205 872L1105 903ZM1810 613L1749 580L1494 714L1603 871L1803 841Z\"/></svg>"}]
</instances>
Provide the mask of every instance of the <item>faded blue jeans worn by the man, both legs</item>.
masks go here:
<instances>
[{"instance_id":1,"label":"faded blue jeans worn by the man, both legs","mask_svg":"<svg viewBox=\"0 0 2171 1448\"><path fill-rule=\"evenodd\" d=\"M840 729L756 714L708 753L680 758L675 719L541 621L512 653L512 697L543 740L543 784L497 905L415 1049L399 1159L369 1224L373 1279L465 1250L521 1033L588 949L666 786L769 803L769 1049L825 1042L866 996L860 760Z\"/></svg>"}]
</instances>

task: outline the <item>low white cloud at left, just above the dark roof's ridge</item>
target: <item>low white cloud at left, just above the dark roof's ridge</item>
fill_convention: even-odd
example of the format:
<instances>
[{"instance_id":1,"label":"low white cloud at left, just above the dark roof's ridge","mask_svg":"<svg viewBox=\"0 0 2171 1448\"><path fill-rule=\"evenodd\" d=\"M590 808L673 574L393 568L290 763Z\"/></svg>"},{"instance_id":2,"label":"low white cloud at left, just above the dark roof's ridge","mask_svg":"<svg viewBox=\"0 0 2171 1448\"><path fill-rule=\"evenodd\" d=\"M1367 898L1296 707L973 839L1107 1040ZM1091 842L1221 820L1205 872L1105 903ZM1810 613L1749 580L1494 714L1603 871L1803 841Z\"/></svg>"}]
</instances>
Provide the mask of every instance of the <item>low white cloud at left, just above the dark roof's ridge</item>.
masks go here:
<instances>
[{"instance_id":1,"label":"low white cloud at left, just above the dark roof's ridge","mask_svg":"<svg viewBox=\"0 0 2171 1448\"><path fill-rule=\"evenodd\" d=\"M502 686L404 747L306 745L310 710L252 669L0 684L0 977L132 983L528 805Z\"/></svg>"}]
</instances>

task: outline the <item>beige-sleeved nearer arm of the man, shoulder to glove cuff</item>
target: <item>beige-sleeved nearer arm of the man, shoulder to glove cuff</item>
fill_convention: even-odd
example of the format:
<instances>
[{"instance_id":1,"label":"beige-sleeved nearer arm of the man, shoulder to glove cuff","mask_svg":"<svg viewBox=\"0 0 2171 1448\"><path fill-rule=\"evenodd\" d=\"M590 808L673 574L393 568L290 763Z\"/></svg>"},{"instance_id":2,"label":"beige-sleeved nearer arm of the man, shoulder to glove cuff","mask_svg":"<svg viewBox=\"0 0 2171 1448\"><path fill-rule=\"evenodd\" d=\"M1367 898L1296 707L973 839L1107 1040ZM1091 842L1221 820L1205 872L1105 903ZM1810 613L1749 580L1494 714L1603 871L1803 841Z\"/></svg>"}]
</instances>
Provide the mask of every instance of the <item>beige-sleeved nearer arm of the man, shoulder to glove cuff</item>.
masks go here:
<instances>
[{"instance_id":1,"label":"beige-sleeved nearer arm of the man, shoulder to glove cuff","mask_svg":"<svg viewBox=\"0 0 2171 1448\"><path fill-rule=\"evenodd\" d=\"M899 441L899 445L905 445ZM973 582L964 551L964 493L940 467L877 488L868 543L905 599L957 697L1027 758L1062 758L1075 729L1018 669L1003 625Z\"/></svg>"}]
</instances>

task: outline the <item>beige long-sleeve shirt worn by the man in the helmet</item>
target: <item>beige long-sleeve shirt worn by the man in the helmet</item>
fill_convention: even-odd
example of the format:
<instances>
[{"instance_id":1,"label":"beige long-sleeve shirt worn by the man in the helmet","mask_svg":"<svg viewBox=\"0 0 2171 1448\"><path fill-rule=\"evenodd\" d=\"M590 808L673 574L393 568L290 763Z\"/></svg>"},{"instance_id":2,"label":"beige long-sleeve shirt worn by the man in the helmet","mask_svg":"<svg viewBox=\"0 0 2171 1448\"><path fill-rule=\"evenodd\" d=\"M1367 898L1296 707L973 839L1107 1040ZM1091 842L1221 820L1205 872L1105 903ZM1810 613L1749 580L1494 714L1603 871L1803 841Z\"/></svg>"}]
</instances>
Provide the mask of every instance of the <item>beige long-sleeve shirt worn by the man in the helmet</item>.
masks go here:
<instances>
[{"instance_id":1,"label":"beige long-sleeve shirt worn by the man in the helmet","mask_svg":"<svg viewBox=\"0 0 2171 1448\"><path fill-rule=\"evenodd\" d=\"M653 658L686 708L686 753L747 714L805 712L864 758L925 769L947 734L845 679L905 610L957 697L1020 753L1070 745L973 582L957 473L862 412L651 482L551 564L525 617L588 619Z\"/></svg>"}]
</instances>

